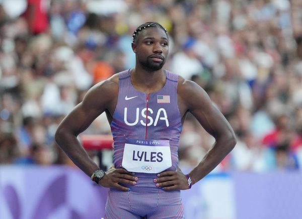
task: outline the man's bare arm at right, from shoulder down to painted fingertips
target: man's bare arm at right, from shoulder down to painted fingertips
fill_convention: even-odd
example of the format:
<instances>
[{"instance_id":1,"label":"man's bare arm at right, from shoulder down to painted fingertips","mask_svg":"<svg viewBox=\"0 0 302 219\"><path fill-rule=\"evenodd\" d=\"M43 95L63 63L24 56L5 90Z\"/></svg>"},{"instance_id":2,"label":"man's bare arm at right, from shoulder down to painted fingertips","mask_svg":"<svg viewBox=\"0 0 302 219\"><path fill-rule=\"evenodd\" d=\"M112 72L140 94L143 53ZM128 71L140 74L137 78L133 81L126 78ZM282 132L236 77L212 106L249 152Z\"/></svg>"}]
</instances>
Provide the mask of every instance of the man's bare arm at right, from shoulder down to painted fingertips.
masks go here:
<instances>
[{"instance_id":1,"label":"man's bare arm at right, from shoulder down to painted fingertips","mask_svg":"<svg viewBox=\"0 0 302 219\"><path fill-rule=\"evenodd\" d=\"M193 114L202 127L215 138L215 144L202 161L189 173L192 184L212 171L228 155L236 144L235 134L230 124L212 104L207 93L196 83L180 78L178 81L178 106L184 118L187 112ZM166 190L188 189L186 176L179 168L164 171L154 179L158 187Z\"/></svg>"}]
</instances>

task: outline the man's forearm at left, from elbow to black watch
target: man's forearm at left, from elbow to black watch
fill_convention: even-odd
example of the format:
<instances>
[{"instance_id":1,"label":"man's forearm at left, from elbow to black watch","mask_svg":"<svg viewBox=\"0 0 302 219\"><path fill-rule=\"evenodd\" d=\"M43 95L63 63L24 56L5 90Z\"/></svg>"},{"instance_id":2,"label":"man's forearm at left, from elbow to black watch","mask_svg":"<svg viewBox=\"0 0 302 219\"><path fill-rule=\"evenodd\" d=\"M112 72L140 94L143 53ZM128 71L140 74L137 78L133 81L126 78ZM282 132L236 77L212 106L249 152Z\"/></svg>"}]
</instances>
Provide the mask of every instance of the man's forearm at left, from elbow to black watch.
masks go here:
<instances>
[{"instance_id":1,"label":"man's forearm at left, from elbow to black watch","mask_svg":"<svg viewBox=\"0 0 302 219\"><path fill-rule=\"evenodd\" d=\"M55 140L65 154L88 176L98 169L98 165L89 157L77 137L67 131L57 130Z\"/></svg>"}]
</instances>

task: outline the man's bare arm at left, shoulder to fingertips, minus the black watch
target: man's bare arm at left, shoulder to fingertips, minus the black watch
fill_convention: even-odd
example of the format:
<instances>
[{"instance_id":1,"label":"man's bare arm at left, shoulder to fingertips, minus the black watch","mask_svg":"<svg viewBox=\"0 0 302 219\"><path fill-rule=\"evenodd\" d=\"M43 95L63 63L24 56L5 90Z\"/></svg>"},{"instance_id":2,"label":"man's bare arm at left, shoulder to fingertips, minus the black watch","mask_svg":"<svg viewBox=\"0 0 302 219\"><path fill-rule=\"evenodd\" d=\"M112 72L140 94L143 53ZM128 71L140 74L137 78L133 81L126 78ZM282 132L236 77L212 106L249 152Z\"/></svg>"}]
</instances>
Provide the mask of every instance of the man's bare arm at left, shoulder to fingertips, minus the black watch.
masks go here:
<instances>
[{"instance_id":1,"label":"man's bare arm at left, shoulder to fingertips, minus the black watch","mask_svg":"<svg viewBox=\"0 0 302 219\"><path fill-rule=\"evenodd\" d=\"M55 140L72 162L88 176L99 169L98 165L88 156L77 136L86 130L90 124L105 110L113 114L118 95L118 77L112 76L93 86L85 95L83 101L75 106L60 123ZM116 187L124 191L129 188L119 183L136 184L137 177L125 169L111 168L99 181L104 187Z\"/></svg>"}]
</instances>

